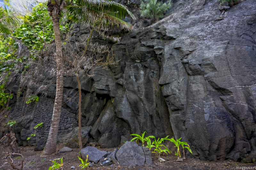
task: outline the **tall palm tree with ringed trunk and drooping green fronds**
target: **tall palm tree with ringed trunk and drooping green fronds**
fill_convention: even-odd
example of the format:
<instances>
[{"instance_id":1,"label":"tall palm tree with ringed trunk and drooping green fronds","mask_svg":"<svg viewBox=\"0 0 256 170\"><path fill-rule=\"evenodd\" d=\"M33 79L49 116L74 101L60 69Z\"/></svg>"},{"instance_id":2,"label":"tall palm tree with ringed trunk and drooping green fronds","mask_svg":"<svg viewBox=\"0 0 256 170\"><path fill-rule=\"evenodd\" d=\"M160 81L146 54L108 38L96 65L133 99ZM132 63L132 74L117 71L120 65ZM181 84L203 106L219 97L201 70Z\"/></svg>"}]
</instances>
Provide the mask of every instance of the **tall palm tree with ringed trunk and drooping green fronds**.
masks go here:
<instances>
[{"instance_id":1,"label":"tall palm tree with ringed trunk and drooping green fronds","mask_svg":"<svg viewBox=\"0 0 256 170\"><path fill-rule=\"evenodd\" d=\"M63 94L63 57L59 23L61 11L64 8L67 8L69 15L72 16L75 21L83 21L90 24L92 26L92 31L95 26L97 26L98 28L107 28L108 26L113 25L121 26L122 28L126 28L131 31L132 26L124 22L122 19L127 14L130 14L133 17L132 13L128 11L127 7L109 0L48 0L47 6L47 10L50 12L49 15L52 17L56 43L57 85L52 114L52 123L49 131L49 136L44 147L44 151L42 152L42 156L51 155L52 153L56 152L57 135L60 122L60 112ZM81 88L79 87L79 89ZM79 101L81 102L81 98ZM81 127L80 111L79 127ZM79 138L81 140L80 134ZM81 149L81 141L79 143L79 147Z\"/></svg>"}]
</instances>

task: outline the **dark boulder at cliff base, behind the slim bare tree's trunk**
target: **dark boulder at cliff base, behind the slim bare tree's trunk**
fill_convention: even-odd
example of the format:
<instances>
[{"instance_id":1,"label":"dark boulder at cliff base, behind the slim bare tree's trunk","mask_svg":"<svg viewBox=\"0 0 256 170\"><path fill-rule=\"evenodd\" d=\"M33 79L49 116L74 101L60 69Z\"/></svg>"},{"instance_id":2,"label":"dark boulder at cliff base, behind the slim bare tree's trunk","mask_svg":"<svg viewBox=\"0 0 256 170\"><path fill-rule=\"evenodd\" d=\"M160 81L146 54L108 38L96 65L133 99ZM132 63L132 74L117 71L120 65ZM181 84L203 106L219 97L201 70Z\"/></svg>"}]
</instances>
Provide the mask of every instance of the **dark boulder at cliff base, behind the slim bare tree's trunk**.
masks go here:
<instances>
[{"instance_id":1,"label":"dark boulder at cliff base, behind the slim bare tree's trunk","mask_svg":"<svg viewBox=\"0 0 256 170\"><path fill-rule=\"evenodd\" d=\"M87 141L89 140L89 132L92 129L91 126L85 126L81 128L81 140L83 147L87 144ZM65 146L70 148L79 148L79 141L78 141L78 127L75 128L71 132L71 136L68 138Z\"/></svg>"}]
</instances>

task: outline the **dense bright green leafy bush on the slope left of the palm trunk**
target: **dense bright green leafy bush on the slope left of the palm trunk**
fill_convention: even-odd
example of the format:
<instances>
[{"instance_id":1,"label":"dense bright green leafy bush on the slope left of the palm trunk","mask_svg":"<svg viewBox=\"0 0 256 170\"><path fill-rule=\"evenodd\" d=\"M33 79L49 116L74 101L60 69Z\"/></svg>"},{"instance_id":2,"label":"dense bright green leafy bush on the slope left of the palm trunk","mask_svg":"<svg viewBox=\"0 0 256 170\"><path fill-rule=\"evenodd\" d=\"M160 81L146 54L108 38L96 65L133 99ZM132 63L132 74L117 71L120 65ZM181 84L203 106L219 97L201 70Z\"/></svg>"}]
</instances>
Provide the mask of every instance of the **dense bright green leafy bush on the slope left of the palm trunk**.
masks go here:
<instances>
[{"instance_id":1,"label":"dense bright green leafy bush on the slope left of the palm trunk","mask_svg":"<svg viewBox=\"0 0 256 170\"><path fill-rule=\"evenodd\" d=\"M9 98L6 88L6 80L11 71L25 72L29 66L28 57L36 59L35 54L40 53L46 44L54 40L52 19L48 14L45 3L38 4L33 10L20 18L20 25L10 33L8 39L0 41L0 110L5 108ZM61 20L60 31L65 39L67 22ZM13 26L14 27L14 26ZM28 48L30 55L17 57L19 48ZM21 63L23 68L16 68ZM17 70L19 69L19 70ZM3 86L2 86L3 85Z\"/></svg>"}]
</instances>

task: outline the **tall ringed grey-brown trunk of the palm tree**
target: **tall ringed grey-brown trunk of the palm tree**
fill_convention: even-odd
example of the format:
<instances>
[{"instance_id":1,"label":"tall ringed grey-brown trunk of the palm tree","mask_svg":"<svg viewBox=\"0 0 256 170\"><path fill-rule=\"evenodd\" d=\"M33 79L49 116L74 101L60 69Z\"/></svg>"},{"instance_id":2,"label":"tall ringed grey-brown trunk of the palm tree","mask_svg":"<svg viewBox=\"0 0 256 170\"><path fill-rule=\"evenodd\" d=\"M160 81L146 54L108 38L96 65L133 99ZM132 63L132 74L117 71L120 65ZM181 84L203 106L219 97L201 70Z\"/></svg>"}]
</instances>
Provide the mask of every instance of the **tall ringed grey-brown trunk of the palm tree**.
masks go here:
<instances>
[{"instance_id":1,"label":"tall ringed grey-brown trunk of the palm tree","mask_svg":"<svg viewBox=\"0 0 256 170\"><path fill-rule=\"evenodd\" d=\"M54 9L57 10L57 9ZM57 13L57 15L56 15ZM54 15L55 14L55 15ZM53 12L52 15L53 30L56 42L56 63L57 63L57 85L56 85L56 97L53 107L52 123L50 127L49 136L42 152L42 156L51 155L56 152L57 135L60 123L60 113L63 95L63 58L62 47L60 37L60 23L58 12Z\"/></svg>"}]
</instances>

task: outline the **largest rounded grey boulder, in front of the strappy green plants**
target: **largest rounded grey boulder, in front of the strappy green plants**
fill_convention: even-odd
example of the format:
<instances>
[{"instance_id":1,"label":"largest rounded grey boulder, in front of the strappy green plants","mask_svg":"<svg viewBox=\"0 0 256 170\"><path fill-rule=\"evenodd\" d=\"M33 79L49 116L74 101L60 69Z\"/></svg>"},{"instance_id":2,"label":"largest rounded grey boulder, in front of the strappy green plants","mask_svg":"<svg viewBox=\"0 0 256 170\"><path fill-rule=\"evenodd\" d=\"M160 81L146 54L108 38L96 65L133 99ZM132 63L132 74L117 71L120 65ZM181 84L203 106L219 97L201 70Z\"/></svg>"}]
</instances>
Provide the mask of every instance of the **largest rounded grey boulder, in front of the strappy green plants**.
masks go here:
<instances>
[{"instance_id":1,"label":"largest rounded grey boulder, in front of the strappy green plants","mask_svg":"<svg viewBox=\"0 0 256 170\"><path fill-rule=\"evenodd\" d=\"M140 147L135 142L126 142L116 153L121 166L152 165L151 152L148 148Z\"/></svg>"}]
</instances>

